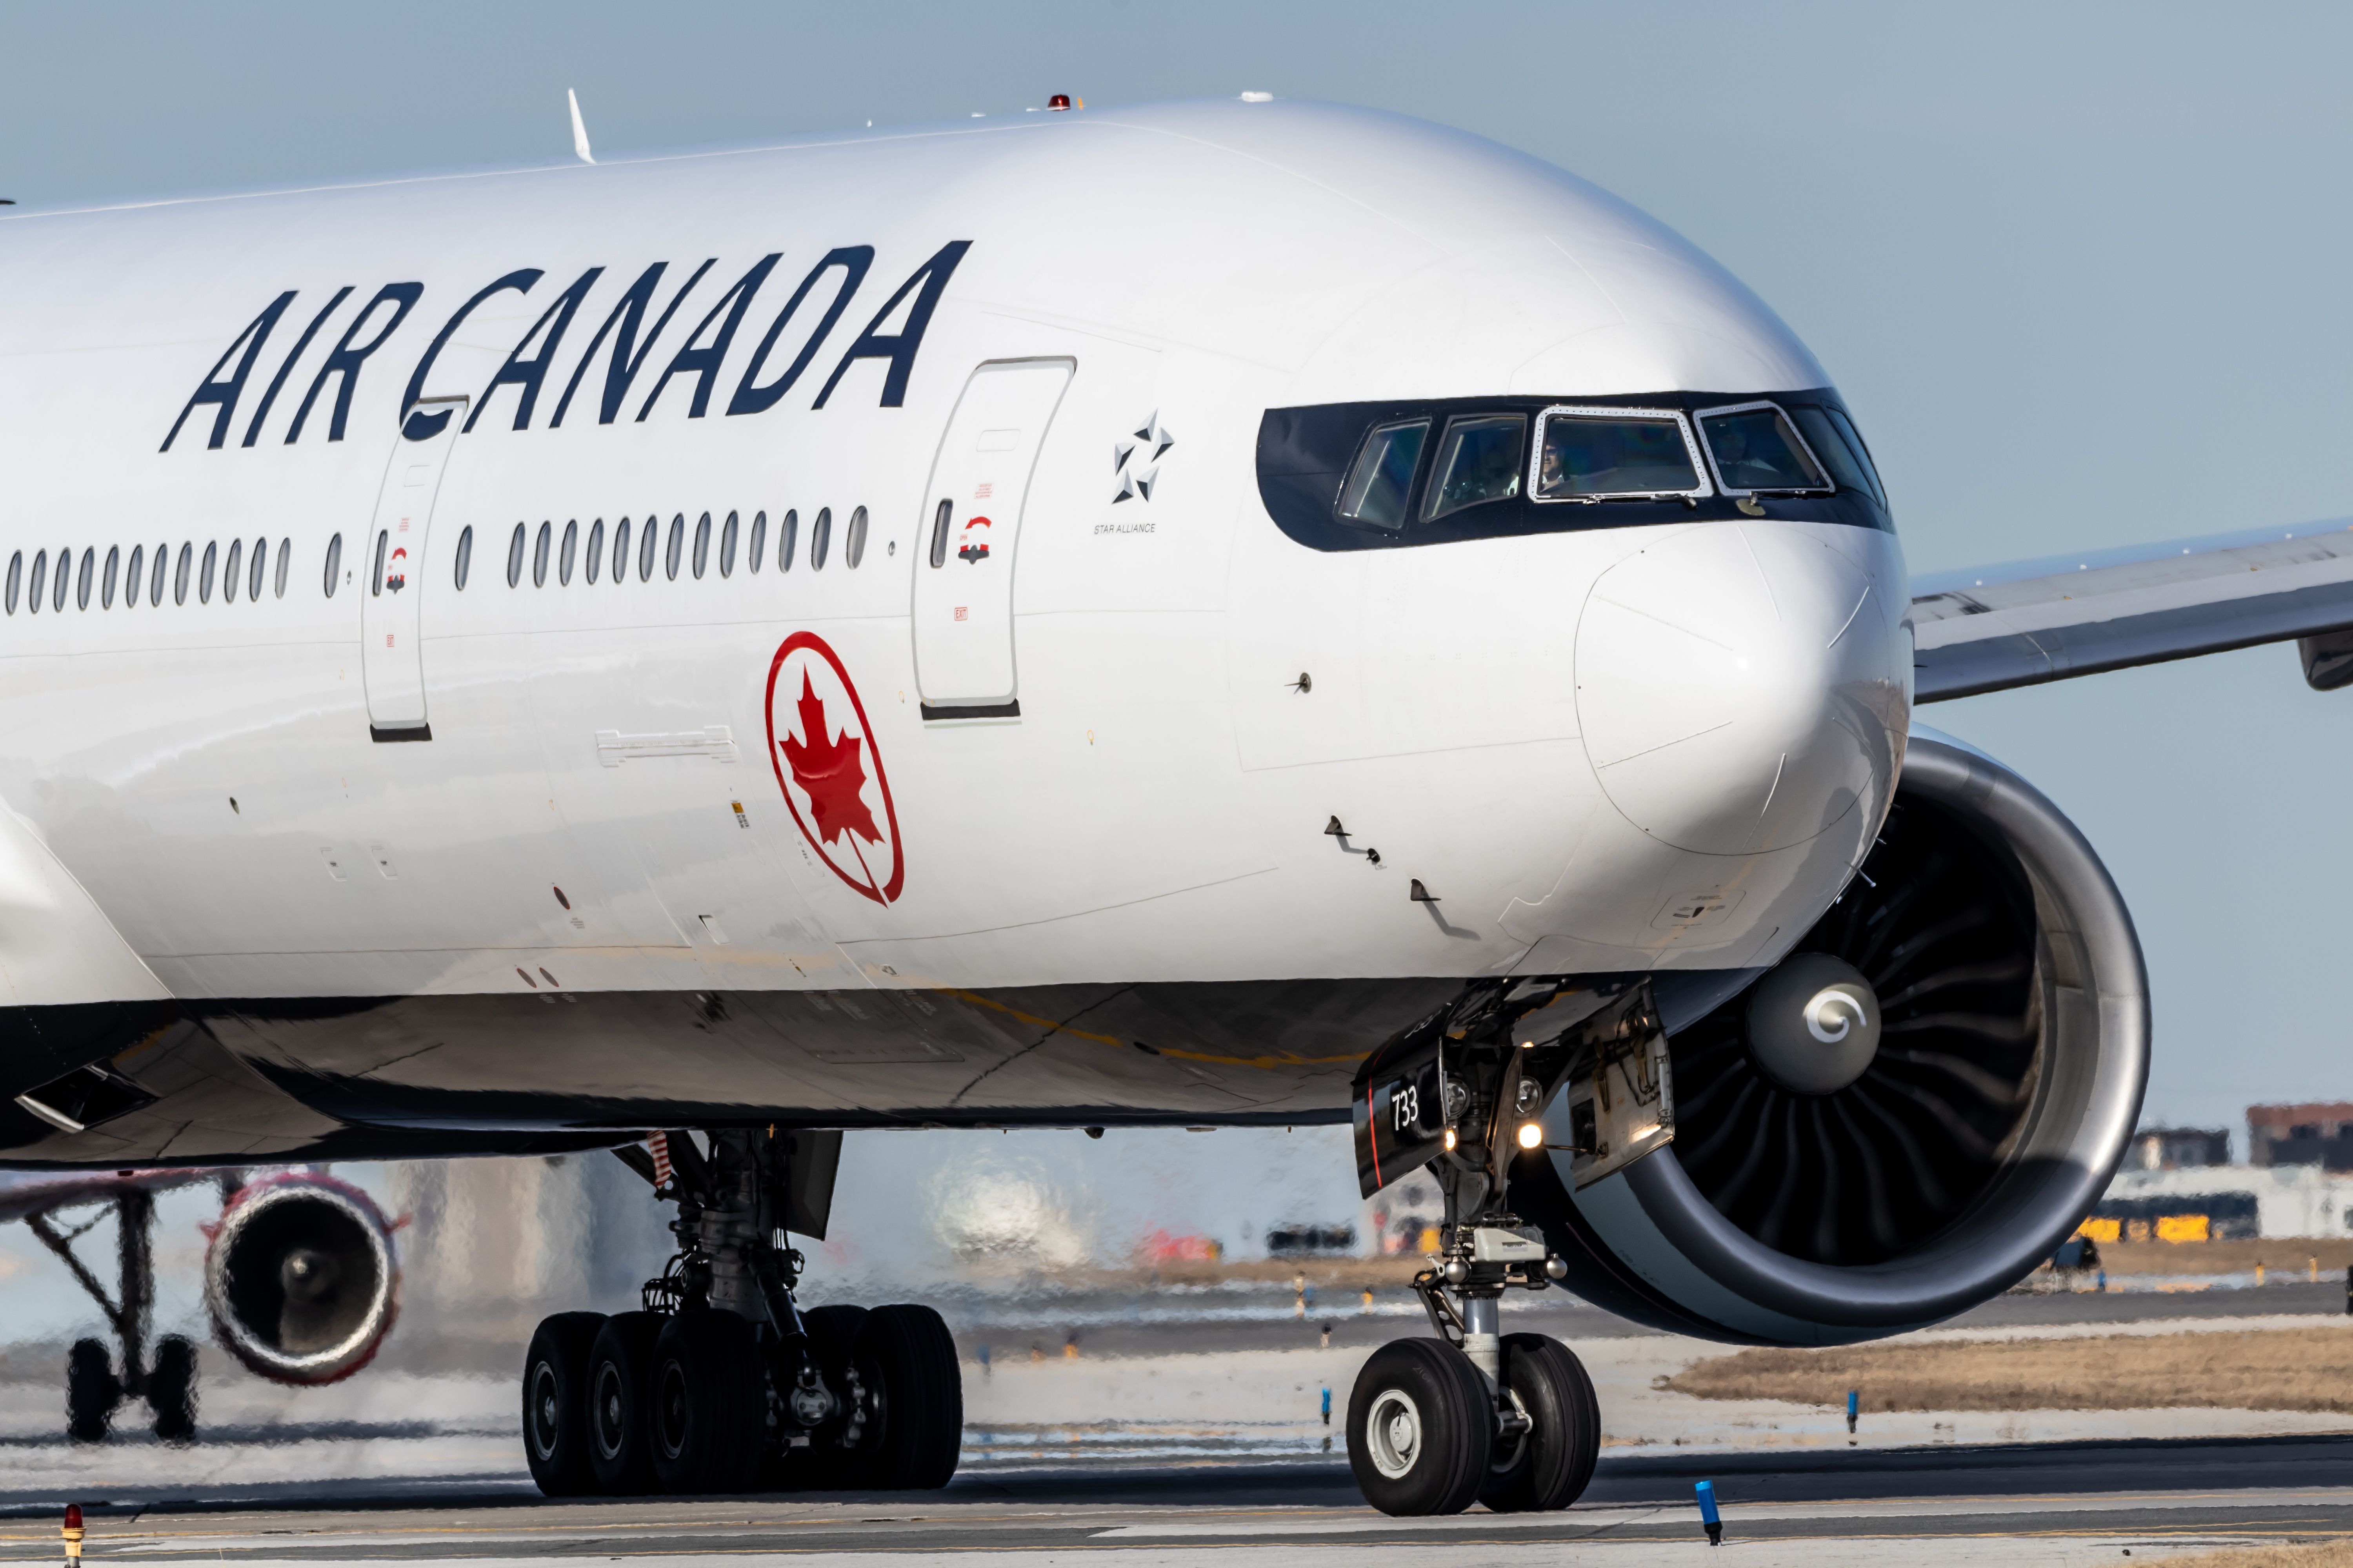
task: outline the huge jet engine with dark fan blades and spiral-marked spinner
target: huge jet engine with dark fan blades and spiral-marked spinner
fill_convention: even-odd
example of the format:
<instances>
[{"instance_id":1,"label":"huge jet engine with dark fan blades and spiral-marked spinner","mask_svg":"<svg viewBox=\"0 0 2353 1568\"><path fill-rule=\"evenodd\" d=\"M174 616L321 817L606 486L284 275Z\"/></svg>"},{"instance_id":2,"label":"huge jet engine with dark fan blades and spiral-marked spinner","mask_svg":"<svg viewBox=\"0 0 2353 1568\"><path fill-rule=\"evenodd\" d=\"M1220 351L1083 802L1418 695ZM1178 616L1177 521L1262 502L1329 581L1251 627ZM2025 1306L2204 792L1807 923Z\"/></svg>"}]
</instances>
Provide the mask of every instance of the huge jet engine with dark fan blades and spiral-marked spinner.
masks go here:
<instances>
[{"instance_id":1,"label":"huge jet engine with dark fan blades and spiral-marked spinner","mask_svg":"<svg viewBox=\"0 0 2353 1568\"><path fill-rule=\"evenodd\" d=\"M1661 983L1671 1145L1574 1199L1567 1154L1515 1161L1511 1206L1569 1288L1673 1333L1842 1345L1953 1316L2049 1258L2122 1161L2148 1079L2141 945L2075 825L1913 729L1878 846L1781 969L1798 983L1765 971L1697 1001L1704 980L1682 978L1682 1018ZM1805 1030L1824 1060L1793 1070ZM1875 1032L1859 1072L1828 1063L1854 1030Z\"/></svg>"}]
</instances>

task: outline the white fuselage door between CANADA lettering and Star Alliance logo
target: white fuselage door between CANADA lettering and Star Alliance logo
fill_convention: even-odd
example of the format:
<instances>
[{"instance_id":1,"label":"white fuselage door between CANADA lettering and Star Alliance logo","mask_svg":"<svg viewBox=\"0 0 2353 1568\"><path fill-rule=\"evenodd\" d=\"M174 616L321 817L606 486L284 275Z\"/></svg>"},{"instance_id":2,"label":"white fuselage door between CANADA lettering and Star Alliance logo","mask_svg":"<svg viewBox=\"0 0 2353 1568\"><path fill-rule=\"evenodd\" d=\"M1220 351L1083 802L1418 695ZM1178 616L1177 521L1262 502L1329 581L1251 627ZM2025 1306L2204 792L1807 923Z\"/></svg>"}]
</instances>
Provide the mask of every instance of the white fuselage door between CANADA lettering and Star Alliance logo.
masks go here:
<instances>
[{"instance_id":1,"label":"white fuselage door between CANADA lettering and Star Alliance logo","mask_svg":"<svg viewBox=\"0 0 2353 1568\"><path fill-rule=\"evenodd\" d=\"M1021 712L1014 545L1047 425L1075 360L993 360L972 371L939 442L915 559L915 689L927 719Z\"/></svg>"}]
</instances>

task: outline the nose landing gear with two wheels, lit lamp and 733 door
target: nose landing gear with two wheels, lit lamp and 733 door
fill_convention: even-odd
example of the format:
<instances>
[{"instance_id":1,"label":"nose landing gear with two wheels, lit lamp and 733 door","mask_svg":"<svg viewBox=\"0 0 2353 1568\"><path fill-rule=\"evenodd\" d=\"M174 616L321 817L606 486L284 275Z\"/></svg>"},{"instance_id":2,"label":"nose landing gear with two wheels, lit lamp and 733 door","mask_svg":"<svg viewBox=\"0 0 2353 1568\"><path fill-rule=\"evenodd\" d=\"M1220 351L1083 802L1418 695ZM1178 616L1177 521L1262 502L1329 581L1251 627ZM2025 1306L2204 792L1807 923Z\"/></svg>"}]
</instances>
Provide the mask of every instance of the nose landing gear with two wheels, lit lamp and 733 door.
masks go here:
<instances>
[{"instance_id":1,"label":"nose landing gear with two wheels, lit lamp and 733 door","mask_svg":"<svg viewBox=\"0 0 2353 1568\"><path fill-rule=\"evenodd\" d=\"M1438 1340L1374 1352L1348 1399L1348 1467L1367 1502L1522 1512L1584 1493L1600 1455L1591 1378L1567 1345L1501 1331L1506 1291L1567 1272L1506 1208L1511 1164L1567 1152L1617 1168L1668 1138L1664 1034L1642 987L1480 985L1372 1056L1355 1084L1360 1187L1372 1197L1428 1166L1445 1225L1414 1279Z\"/></svg>"}]
</instances>

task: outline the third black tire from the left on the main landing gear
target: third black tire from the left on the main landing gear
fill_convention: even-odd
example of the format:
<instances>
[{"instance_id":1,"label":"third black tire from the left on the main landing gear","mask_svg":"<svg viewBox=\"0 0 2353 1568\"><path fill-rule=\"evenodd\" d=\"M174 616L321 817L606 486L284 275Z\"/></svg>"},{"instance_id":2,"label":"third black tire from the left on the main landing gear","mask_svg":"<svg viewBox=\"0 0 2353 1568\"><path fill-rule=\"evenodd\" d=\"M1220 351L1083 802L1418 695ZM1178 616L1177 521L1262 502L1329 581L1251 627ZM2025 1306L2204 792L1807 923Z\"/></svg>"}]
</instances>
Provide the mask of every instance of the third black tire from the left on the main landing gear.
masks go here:
<instances>
[{"instance_id":1,"label":"third black tire from the left on the main landing gear","mask_svg":"<svg viewBox=\"0 0 2353 1568\"><path fill-rule=\"evenodd\" d=\"M689 1309L654 1340L647 1418L661 1490L748 1493L767 1443L767 1375L748 1321Z\"/></svg>"}]
</instances>

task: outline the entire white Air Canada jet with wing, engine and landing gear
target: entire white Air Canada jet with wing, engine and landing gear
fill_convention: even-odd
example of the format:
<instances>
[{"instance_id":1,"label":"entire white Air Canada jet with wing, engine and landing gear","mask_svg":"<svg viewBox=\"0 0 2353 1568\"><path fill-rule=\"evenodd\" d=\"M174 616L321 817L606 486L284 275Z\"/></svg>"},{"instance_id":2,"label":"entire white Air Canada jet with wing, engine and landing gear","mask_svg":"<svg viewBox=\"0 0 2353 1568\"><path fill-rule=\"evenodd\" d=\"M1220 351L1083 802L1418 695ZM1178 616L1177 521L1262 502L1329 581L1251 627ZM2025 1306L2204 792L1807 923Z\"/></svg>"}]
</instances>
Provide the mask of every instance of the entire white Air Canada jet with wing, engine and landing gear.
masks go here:
<instances>
[{"instance_id":1,"label":"entire white Air Canada jet with wing, engine and landing gear","mask_svg":"<svg viewBox=\"0 0 2353 1568\"><path fill-rule=\"evenodd\" d=\"M0 214L0 1164L616 1150L551 1495L951 1479L939 1314L795 1302L842 1128L1351 1121L1447 1204L1355 1479L1565 1507L1508 1291L1889 1335L2125 1152L2132 914L1915 705L2353 677L2344 522L1913 581L1795 334L1478 136L576 148Z\"/></svg>"}]
</instances>

